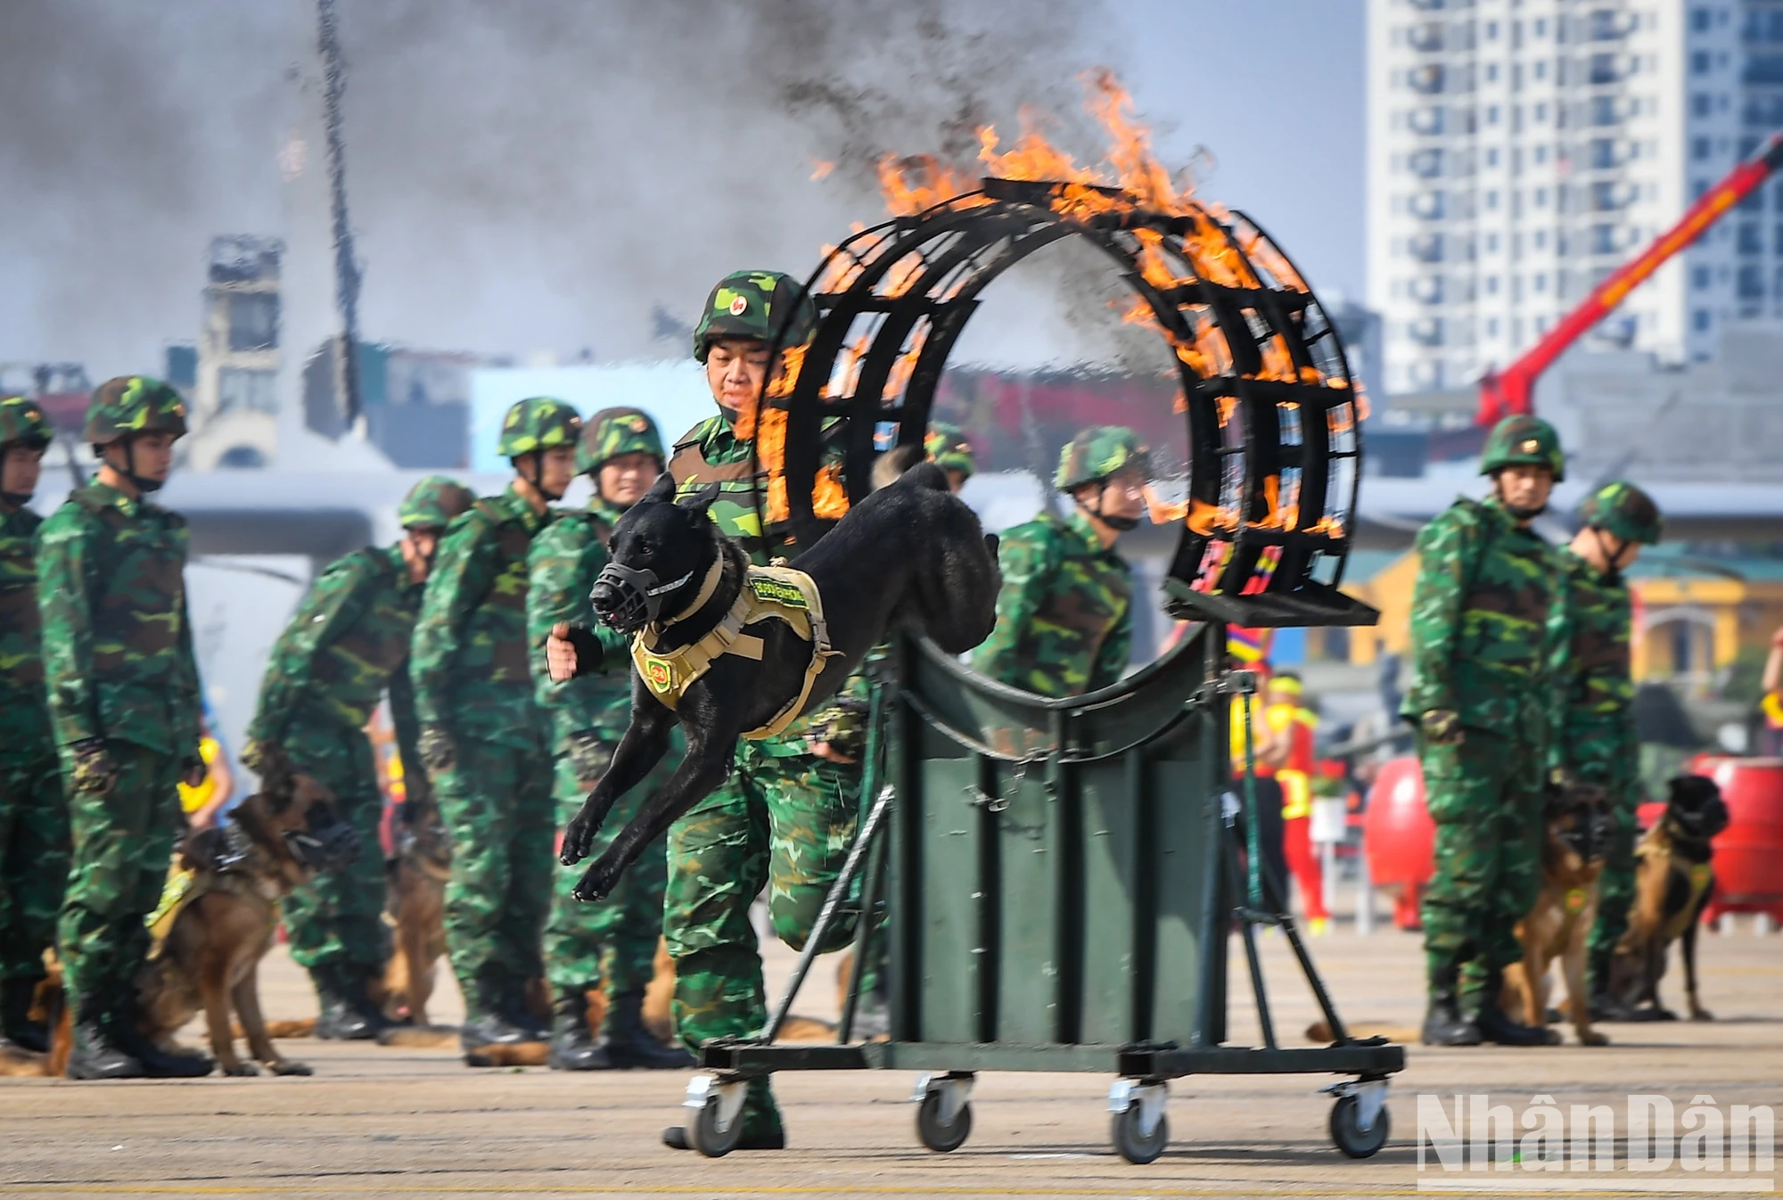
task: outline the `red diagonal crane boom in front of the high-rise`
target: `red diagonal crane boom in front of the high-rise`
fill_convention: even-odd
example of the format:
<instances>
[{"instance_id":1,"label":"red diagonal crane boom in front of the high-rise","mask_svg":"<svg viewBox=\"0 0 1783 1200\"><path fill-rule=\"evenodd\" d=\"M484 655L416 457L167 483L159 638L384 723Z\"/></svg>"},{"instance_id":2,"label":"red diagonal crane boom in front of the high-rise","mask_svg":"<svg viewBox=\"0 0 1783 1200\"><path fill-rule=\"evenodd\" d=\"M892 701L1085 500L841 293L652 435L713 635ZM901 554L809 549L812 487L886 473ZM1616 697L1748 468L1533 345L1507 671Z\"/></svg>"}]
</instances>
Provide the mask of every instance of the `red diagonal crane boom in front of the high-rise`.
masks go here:
<instances>
[{"instance_id":1,"label":"red diagonal crane boom in front of the high-rise","mask_svg":"<svg viewBox=\"0 0 1783 1200\"><path fill-rule=\"evenodd\" d=\"M1628 292L1640 287L1649 275L1658 271L1667 259L1701 237L1722 214L1756 191L1778 168L1783 168L1783 132L1771 134L1765 144L1758 148L1758 153L1733 168L1726 178L1703 193L1678 218L1676 225L1660 234L1639 257L1624 262L1598 284L1590 291L1590 296L1585 296L1578 308L1565 314L1558 325L1548 330L1542 341L1535 342L1528 353L1503 371L1487 373L1480 380L1476 424L1491 426L1501 417L1533 412L1535 380L1541 378L1542 371L1590 326L1610 316L1610 310L1621 305L1628 298Z\"/></svg>"}]
</instances>

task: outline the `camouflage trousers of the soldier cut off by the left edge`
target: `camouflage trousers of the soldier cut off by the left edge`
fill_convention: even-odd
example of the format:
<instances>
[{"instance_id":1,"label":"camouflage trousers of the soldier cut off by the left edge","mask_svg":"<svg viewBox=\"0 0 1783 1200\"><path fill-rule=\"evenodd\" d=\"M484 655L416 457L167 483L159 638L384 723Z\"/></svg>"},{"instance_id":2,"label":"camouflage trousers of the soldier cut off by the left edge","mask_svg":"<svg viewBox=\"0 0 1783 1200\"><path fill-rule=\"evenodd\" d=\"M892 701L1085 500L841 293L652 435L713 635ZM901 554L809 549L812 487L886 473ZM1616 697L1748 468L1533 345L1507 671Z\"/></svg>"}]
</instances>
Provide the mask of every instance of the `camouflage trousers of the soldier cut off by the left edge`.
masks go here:
<instances>
[{"instance_id":1,"label":"camouflage trousers of the soldier cut off by the left edge","mask_svg":"<svg viewBox=\"0 0 1783 1200\"><path fill-rule=\"evenodd\" d=\"M55 749L0 756L0 979L41 979L68 886L68 806Z\"/></svg>"}]
</instances>

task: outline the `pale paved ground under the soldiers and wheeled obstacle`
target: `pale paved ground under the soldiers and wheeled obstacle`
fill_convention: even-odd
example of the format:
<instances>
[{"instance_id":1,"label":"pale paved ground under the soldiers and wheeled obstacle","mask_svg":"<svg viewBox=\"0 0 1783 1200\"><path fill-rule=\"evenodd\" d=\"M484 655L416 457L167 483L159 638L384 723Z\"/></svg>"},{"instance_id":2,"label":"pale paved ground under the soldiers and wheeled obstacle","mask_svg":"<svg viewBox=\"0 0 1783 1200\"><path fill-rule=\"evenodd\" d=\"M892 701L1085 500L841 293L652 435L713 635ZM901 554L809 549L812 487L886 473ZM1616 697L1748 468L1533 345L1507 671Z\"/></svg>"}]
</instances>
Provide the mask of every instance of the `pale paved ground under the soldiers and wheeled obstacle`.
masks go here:
<instances>
[{"instance_id":1,"label":"pale paved ground under the soldiers and wheeled obstacle","mask_svg":"<svg viewBox=\"0 0 1783 1200\"><path fill-rule=\"evenodd\" d=\"M1417 1018L1416 938L1337 931L1312 945L1350 1020ZM776 972L786 961L779 952ZM1266 945L1266 968L1280 1025L1303 1029L1312 1002L1280 938ZM1394 1084L1394 1139L1360 1163L1332 1150L1330 1102L1316 1093L1328 1081L1314 1077L1180 1081L1170 1150L1150 1166L1130 1166L1107 1143L1107 1077L984 1075L972 1139L934 1155L915 1141L908 1073L795 1075L777 1084L790 1150L708 1161L656 1141L658 1129L678 1120L683 1073L472 1072L444 1050L292 1041L285 1050L312 1063L316 1077L0 1081L0 1196L1407 1195L1437 1177L1416 1168L1414 1093L1491 1093L1519 1113L1535 1095L1621 1111L1626 1093L1651 1091L1680 1113L1697 1095L1722 1109L1783 1100L1783 938L1705 938L1703 975L1713 1023L1610 1027L1610 1048L1412 1048ZM264 979L271 1016L310 1011L282 952ZM822 1015L826 1002L833 988L813 988L801 1009ZM1243 982L1232 1007L1234 1040L1250 1038ZM440 1015L456 1016L455 995ZM1467 1182L1551 1179L1512 1170ZM1630 1179L1619 1171L1621 1184ZM1703 1179L1674 1170L1647 1184L1685 1191ZM1747 1177L1722 1175L1715 1189L1737 1182L1749 1186ZM1558 1186L1580 1188L1567 1177Z\"/></svg>"}]
</instances>

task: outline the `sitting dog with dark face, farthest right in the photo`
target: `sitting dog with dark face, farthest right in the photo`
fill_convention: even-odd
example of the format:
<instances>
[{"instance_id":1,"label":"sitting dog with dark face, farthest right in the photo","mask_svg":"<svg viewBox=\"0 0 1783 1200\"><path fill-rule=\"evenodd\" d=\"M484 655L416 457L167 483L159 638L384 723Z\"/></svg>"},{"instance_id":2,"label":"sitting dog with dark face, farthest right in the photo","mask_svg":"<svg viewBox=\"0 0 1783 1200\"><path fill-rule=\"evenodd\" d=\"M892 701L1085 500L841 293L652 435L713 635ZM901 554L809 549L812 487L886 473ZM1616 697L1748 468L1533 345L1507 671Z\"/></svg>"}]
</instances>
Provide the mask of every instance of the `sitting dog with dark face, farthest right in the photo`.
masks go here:
<instances>
[{"instance_id":1,"label":"sitting dog with dark face, farthest right in the photo","mask_svg":"<svg viewBox=\"0 0 1783 1200\"><path fill-rule=\"evenodd\" d=\"M1690 1020L1706 1022L1710 1013L1696 995L1696 931L1715 892L1710 842L1728 827L1728 802L1706 776L1678 776L1669 788L1665 815L1635 847L1635 902L1610 958L1610 995L1640 1020L1678 1020L1660 1004L1660 979L1665 949L1681 941Z\"/></svg>"}]
</instances>

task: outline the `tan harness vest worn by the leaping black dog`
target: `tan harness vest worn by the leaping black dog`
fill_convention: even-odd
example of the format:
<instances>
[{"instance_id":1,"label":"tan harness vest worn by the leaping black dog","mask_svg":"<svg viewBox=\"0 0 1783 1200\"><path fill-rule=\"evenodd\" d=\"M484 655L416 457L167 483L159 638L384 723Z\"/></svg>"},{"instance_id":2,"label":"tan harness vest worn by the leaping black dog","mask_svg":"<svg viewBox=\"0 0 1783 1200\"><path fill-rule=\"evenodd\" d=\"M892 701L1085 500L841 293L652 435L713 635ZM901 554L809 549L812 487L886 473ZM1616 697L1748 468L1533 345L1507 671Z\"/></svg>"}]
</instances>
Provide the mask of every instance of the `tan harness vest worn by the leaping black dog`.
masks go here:
<instances>
[{"instance_id":1,"label":"tan harness vest worn by the leaping black dog","mask_svg":"<svg viewBox=\"0 0 1783 1200\"><path fill-rule=\"evenodd\" d=\"M817 583L802 571L792 567L747 567L744 585L736 590L731 612L706 637L676 651L656 649L665 629L699 612L719 590L719 578L724 574L724 556L720 555L706 579L699 585L694 603L669 621L644 626L631 640L631 663L638 676L658 701L676 710L681 697L694 686L694 681L711 670L724 654L761 660L761 638L744 633L745 626L761 621L781 621L801 642L811 644L811 662L804 669L804 683L785 708L760 729L751 729L744 736L751 742L772 738L786 729L804 708L806 697L817 685L817 676L824 670L824 660L838 654L829 644L829 626L824 624L824 597L817 594Z\"/></svg>"}]
</instances>

